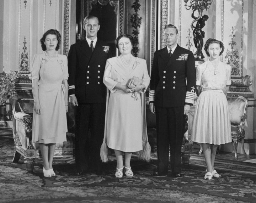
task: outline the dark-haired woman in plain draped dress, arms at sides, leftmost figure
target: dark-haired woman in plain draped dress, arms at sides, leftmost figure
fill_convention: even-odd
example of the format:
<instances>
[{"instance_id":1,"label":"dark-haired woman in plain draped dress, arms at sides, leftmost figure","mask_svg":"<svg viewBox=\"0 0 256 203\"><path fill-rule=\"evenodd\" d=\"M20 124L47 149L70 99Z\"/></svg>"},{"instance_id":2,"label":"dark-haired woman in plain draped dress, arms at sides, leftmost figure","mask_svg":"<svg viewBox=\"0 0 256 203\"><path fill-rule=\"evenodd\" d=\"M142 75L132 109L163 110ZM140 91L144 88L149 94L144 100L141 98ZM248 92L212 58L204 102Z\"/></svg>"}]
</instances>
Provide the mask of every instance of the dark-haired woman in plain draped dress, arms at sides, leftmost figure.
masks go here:
<instances>
[{"instance_id":1,"label":"dark-haired woman in plain draped dress, arms at sides, leftmost figure","mask_svg":"<svg viewBox=\"0 0 256 203\"><path fill-rule=\"evenodd\" d=\"M32 141L39 143L45 177L55 176L52 163L56 143L66 141L68 131L68 60L57 53L61 36L50 29L40 40L41 54L32 63L32 92L34 98Z\"/></svg>"}]
</instances>

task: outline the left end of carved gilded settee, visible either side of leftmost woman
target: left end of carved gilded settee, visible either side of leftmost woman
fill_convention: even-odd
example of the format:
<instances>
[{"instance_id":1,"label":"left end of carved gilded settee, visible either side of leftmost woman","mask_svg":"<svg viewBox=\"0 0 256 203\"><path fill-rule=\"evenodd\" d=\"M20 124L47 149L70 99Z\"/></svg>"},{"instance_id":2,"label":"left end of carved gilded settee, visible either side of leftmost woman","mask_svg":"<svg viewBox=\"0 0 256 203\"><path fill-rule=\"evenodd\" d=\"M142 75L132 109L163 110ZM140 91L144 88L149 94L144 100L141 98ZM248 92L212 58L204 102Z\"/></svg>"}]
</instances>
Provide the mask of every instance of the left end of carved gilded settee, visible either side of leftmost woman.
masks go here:
<instances>
[{"instance_id":1,"label":"left end of carved gilded settee, visible either side of leftmost woman","mask_svg":"<svg viewBox=\"0 0 256 203\"><path fill-rule=\"evenodd\" d=\"M26 170L33 171L34 161L40 157L39 145L31 143L32 140L32 121L34 101L32 93L18 94L13 100L13 136L15 144L15 153L13 162L17 163L21 156L25 159ZM72 107L69 106L68 131L66 133L66 142L56 143L54 157L73 157L74 151L74 118Z\"/></svg>"}]
</instances>

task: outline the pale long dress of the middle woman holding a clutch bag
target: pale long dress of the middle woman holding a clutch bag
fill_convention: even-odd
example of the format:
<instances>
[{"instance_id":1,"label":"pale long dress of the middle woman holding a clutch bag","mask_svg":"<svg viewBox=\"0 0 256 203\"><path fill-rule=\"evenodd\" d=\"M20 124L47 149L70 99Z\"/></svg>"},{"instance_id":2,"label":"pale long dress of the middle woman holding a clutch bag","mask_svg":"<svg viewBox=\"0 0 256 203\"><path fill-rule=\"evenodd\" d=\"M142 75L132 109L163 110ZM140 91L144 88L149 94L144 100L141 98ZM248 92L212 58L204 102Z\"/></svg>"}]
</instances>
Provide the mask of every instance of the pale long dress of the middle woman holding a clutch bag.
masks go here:
<instances>
[{"instance_id":1,"label":"pale long dress of the middle woman holding a clutch bag","mask_svg":"<svg viewBox=\"0 0 256 203\"><path fill-rule=\"evenodd\" d=\"M115 88L118 83L127 85L133 76L142 79L142 84L145 85L138 100L133 98L133 93L125 93ZM149 81L144 59L131 56L129 63L126 63L122 56L118 56L107 60L103 82L110 90L105 124L106 143L109 148L123 152L142 150L142 136L146 134L145 120L143 120L145 100L142 97Z\"/></svg>"}]
</instances>

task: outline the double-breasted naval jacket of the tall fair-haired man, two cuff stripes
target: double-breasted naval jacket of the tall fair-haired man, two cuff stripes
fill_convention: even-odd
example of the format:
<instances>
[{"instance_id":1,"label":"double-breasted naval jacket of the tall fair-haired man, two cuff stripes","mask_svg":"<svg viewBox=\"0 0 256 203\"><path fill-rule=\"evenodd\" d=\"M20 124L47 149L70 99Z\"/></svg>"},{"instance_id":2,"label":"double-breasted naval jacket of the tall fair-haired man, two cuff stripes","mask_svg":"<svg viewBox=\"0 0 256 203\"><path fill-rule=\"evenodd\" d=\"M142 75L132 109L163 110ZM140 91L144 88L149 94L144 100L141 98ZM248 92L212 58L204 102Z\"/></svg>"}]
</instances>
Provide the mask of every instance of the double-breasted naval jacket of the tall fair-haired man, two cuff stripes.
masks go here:
<instances>
[{"instance_id":1,"label":"double-breasted naval jacket of the tall fair-haired man, two cuff stripes","mask_svg":"<svg viewBox=\"0 0 256 203\"><path fill-rule=\"evenodd\" d=\"M103 75L110 47L97 40L94 52L86 40L70 46L68 54L69 95L75 95L79 103L106 102L106 86Z\"/></svg>"}]
</instances>

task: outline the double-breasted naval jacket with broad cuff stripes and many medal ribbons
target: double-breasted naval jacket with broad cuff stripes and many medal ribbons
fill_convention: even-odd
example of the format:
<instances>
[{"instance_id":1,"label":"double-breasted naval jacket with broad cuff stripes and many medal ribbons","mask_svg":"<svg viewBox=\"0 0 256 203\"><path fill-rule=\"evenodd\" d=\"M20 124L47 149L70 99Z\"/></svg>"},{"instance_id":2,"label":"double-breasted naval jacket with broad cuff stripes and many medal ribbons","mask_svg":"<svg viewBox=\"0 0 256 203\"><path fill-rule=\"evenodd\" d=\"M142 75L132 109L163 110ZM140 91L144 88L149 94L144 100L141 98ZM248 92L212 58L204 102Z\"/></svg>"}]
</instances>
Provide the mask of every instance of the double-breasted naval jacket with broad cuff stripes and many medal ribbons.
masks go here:
<instances>
[{"instance_id":1,"label":"double-breasted naval jacket with broad cuff stripes and many medal ribbons","mask_svg":"<svg viewBox=\"0 0 256 203\"><path fill-rule=\"evenodd\" d=\"M150 102L159 107L193 105L196 69L193 53L177 45L172 56L167 47L154 53L150 80Z\"/></svg>"}]
</instances>

